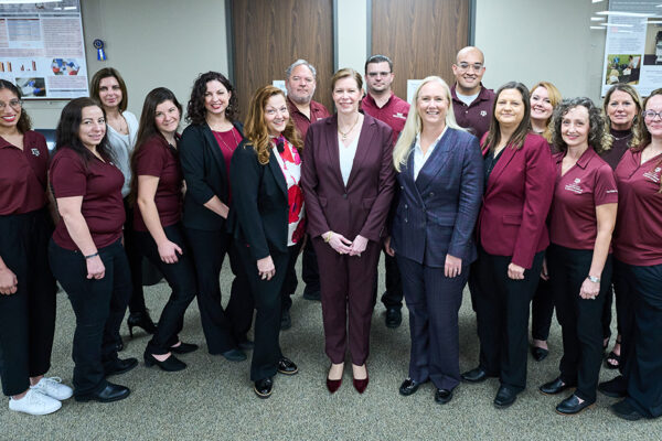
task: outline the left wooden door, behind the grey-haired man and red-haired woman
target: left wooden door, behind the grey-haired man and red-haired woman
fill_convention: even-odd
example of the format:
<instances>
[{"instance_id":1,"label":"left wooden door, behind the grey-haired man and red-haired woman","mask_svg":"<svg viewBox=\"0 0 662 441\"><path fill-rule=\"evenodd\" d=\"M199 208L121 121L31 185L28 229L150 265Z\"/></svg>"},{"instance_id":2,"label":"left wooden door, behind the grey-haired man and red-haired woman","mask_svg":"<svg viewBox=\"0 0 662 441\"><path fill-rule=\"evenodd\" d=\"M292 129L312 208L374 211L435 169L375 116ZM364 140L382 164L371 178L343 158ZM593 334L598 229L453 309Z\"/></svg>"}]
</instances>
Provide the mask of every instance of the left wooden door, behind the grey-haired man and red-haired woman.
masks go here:
<instances>
[{"instance_id":1,"label":"left wooden door, behind the grey-haired man and red-haired woman","mask_svg":"<svg viewBox=\"0 0 662 441\"><path fill-rule=\"evenodd\" d=\"M250 96L305 58L317 69L313 99L331 110L333 76L332 0L232 0L234 86L239 118Z\"/></svg>"}]
</instances>

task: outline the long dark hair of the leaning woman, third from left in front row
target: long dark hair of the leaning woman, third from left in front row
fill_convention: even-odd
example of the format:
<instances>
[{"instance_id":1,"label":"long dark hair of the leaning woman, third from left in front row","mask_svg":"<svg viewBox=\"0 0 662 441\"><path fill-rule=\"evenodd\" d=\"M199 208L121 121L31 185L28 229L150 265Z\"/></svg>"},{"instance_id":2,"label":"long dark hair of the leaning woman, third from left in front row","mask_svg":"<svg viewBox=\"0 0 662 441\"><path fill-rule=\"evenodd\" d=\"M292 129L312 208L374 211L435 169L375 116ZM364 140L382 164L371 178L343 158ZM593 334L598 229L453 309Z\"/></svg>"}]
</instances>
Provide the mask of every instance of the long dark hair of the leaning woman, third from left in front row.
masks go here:
<instances>
[{"instance_id":1,"label":"long dark hair of the leaning woman, third from left in front row","mask_svg":"<svg viewBox=\"0 0 662 441\"><path fill-rule=\"evenodd\" d=\"M140 123L138 126L138 136L136 138L136 148L134 149L134 153L131 154L131 192L129 194L129 202L132 204L136 201L136 196L138 195L138 175L136 173L138 169L138 152L142 150L142 147L147 141L149 141L153 137L161 137L161 132L157 128L157 106L164 101L172 101L174 106L178 108L180 112L180 118L182 115L182 105L177 100L177 97L172 93L172 90L166 87L157 87L152 89L145 97L145 103L142 104L142 112L140 114Z\"/></svg>"}]
</instances>

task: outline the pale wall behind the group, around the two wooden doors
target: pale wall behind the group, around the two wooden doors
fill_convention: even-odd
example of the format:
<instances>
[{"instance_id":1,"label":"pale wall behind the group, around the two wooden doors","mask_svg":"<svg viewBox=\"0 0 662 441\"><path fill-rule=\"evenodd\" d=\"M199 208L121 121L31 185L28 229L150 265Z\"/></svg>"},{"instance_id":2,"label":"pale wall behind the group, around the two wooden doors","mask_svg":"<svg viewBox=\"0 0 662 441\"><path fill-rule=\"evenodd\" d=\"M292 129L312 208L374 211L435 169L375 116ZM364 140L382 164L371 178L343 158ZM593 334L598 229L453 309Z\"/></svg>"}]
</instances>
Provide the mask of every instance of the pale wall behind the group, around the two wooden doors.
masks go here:
<instances>
[{"instance_id":1,"label":"pale wall behind the group, around the two wooden doors","mask_svg":"<svg viewBox=\"0 0 662 441\"><path fill-rule=\"evenodd\" d=\"M136 115L154 87L169 87L185 107L197 74L228 73L224 0L82 3L88 73L116 67ZM598 101L605 32L590 31L589 18L605 8L607 2L592 6L590 0L477 0L474 41L485 53L484 84L498 88L511 79L526 85L546 79L564 96ZM367 13L367 0L337 0L338 67L363 71ZM105 62L96 60L95 39L106 43ZM65 104L30 101L26 109L36 128L54 128Z\"/></svg>"}]
</instances>

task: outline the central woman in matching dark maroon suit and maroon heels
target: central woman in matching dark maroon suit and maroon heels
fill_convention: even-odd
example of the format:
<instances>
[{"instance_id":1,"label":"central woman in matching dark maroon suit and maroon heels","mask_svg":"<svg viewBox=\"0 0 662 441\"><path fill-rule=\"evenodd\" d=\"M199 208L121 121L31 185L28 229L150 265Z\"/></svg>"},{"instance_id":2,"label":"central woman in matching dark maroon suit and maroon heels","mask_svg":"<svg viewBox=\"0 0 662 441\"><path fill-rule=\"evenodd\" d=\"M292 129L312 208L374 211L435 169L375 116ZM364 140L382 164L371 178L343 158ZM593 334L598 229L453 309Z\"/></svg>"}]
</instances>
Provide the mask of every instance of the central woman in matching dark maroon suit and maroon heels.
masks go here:
<instances>
[{"instance_id":1,"label":"central woman in matching dark maroon suit and maroon heels","mask_svg":"<svg viewBox=\"0 0 662 441\"><path fill-rule=\"evenodd\" d=\"M393 197L392 130L359 111L363 80L350 68L333 75L338 112L310 126L303 149L308 233L320 268L327 386L340 387L348 346L354 387L367 386L373 287L384 224Z\"/></svg>"}]
</instances>

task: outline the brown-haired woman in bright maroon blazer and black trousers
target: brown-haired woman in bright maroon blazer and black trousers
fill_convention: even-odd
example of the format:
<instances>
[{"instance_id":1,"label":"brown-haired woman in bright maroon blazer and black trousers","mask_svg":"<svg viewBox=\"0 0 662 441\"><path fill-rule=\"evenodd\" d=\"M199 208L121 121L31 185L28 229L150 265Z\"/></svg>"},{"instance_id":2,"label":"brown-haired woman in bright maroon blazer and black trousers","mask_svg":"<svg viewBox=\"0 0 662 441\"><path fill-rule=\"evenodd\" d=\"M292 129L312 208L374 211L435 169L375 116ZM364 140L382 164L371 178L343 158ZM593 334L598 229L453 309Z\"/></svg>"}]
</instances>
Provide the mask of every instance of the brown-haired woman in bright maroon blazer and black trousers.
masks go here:
<instances>
[{"instance_id":1,"label":"brown-haired woman in bright maroon blazer and black trousers","mask_svg":"<svg viewBox=\"0 0 662 441\"><path fill-rule=\"evenodd\" d=\"M481 146L485 192L478 218L476 313L480 364L462 374L478 383L499 376L494 406L512 405L526 386L528 304L549 237L545 218L554 192L547 141L530 131L528 90L508 83L496 92L492 123Z\"/></svg>"}]
</instances>

